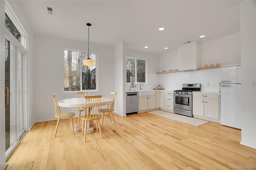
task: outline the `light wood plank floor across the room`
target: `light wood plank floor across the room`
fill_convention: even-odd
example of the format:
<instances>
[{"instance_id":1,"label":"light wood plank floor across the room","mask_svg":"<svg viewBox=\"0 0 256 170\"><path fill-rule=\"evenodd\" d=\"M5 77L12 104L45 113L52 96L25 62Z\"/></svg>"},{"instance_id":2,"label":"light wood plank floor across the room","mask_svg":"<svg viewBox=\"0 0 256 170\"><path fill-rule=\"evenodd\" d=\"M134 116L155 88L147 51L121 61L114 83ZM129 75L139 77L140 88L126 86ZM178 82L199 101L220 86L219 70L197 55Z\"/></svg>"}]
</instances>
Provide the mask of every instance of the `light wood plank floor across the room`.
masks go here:
<instances>
[{"instance_id":1,"label":"light wood plank floor across the room","mask_svg":"<svg viewBox=\"0 0 256 170\"><path fill-rule=\"evenodd\" d=\"M77 126L76 118L74 126ZM70 119L34 124L6 170L226 170L254 166L256 150L240 145L241 130L209 122L196 127L148 113L104 119L99 132L72 134Z\"/></svg>"}]
</instances>

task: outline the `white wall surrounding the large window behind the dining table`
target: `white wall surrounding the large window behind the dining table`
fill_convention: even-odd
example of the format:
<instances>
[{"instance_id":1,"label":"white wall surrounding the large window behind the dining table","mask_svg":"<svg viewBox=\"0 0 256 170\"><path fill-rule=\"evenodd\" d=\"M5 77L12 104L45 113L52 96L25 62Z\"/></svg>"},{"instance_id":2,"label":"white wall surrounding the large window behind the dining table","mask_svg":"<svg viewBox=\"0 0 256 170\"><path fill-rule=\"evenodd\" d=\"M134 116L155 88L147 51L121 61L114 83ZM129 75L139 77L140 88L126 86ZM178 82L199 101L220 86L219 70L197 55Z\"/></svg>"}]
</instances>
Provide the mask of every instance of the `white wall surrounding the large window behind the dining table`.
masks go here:
<instances>
[{"instance_id":1,"label":"white wall surrounding the large window behind the dining table","mask_svg":"<svg viewBox=\"0 0 256 170\"><path fill-rule=\"evenodd\" d=\"M31 114L35 121L54 119L52 94L56 94L58 100L77 97L74 92L64 92L64 49L87 51L87 47L86 42L34 36L34 110ZM114 48L90 43L90 52L98 52L98 93L90 94L109 97L110 92L114 92ZM76 108L62 108L62 112L78 115Z\"/></svg>"}]
</instances>

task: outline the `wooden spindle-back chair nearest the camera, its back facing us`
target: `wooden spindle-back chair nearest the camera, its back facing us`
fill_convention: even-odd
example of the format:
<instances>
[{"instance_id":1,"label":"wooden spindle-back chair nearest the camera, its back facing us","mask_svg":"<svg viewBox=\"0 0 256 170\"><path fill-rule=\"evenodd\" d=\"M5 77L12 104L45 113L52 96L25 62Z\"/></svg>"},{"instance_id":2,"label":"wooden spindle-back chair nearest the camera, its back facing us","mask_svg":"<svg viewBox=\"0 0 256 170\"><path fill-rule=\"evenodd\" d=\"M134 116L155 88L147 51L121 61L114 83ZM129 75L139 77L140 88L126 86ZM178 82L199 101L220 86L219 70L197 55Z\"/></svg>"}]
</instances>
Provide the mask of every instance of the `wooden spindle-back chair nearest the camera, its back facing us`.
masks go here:
<instances>
[{"instance_id":1,"label":"wooden spindle-back chair nearest the camera, its back facing us","mask_svg":"<svg viewBox=\"0 0 256 170\"><path fill-rule=\"evenodd\" d=\"M101 135L101 128L100 128L100 98L102 98L102 95L98 96L84 96L85 98L85 105L84 105L84 116L81 116L81 119L83 121L82 124L82 135L84 132L84 142L86 142L86 134L87 134L87 124L90 120L96 120L96 130L98 132L98 129L100 131L100 138L102 138ZM85 130L84 130L85 127Z\"/></svg>"}]
</instances>

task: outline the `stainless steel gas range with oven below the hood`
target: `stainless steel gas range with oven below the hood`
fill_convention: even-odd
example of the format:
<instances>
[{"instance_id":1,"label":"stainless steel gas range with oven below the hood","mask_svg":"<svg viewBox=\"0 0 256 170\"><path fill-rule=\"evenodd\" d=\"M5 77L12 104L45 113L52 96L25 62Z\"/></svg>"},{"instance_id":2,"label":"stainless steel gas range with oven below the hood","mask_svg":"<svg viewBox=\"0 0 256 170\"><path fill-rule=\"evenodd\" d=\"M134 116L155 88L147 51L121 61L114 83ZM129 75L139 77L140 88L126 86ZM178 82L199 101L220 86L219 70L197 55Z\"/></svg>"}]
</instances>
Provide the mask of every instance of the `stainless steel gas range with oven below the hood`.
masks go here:
<instances>
[{"instance_id":1,"label":"stainless steel gas range with oven below the hood","mask_svg":"<svg viewBox=\"0 0 256 170\"><path fill-rule=\"evenodd\" d=\"M182 84L182 90L173 92L173 110L176 114L193 117L192 92L201 91L201 84Z\"/></svg>"}]
</instances>

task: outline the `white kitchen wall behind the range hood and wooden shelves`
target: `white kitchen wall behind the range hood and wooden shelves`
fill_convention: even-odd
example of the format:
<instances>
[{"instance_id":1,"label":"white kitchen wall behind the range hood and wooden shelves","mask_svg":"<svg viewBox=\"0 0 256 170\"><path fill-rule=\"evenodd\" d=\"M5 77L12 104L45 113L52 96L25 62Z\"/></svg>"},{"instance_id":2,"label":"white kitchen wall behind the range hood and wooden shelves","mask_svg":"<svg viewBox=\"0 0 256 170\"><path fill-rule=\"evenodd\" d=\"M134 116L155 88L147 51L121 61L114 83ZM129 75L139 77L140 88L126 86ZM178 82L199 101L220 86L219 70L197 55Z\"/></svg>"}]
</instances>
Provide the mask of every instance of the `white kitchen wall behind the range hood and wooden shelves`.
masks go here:
<instances>
[{"instance_id":1,"label":"white kitchen wall behind the range hood and wooden shelves","mask_svg":"<svg viewBox=\"0 0 256 170\"><path fill-rule=\"evenodd\" d=\"M218 63L218 65L239 64L241 62L240 32L202 42L200 45L202 65L214 63ZM178 69L178 50L161 54L159 69L165 71ZM181 89L183 83L201 83L202 91L218 92L220 68L159 74L159 82L166 90ZM208 86L208 83L210 86Z\"/></svg>"}]
</instances>

